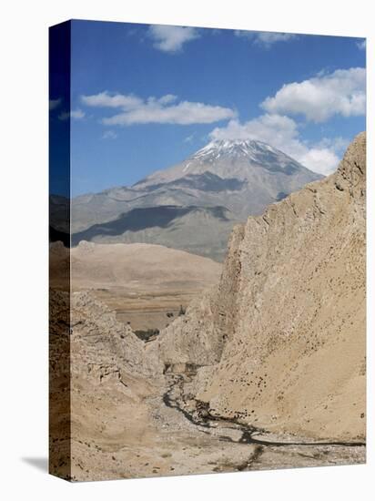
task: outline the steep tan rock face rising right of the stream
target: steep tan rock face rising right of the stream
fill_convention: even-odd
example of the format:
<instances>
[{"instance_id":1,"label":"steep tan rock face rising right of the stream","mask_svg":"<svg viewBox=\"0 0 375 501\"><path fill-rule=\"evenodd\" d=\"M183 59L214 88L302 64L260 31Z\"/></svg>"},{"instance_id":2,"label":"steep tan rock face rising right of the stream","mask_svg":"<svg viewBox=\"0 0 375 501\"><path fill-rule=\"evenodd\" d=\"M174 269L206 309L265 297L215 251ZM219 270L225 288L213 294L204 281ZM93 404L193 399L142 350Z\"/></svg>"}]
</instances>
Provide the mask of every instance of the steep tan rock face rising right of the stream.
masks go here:
<instances>
[{"instance_id":1,"label":"steep tan rock face rising right of the stream","mask_svg":"<svg viewBox=\"0 0 375 501\"><path fill-rule=\"evenodd\" d=\"M211 414L313 438L364 438L365 189L362 133L333 175L234 231L218 291L160 337L164 358L173 351L210 365L195 389Z\"/></svg>"}]
</instances>

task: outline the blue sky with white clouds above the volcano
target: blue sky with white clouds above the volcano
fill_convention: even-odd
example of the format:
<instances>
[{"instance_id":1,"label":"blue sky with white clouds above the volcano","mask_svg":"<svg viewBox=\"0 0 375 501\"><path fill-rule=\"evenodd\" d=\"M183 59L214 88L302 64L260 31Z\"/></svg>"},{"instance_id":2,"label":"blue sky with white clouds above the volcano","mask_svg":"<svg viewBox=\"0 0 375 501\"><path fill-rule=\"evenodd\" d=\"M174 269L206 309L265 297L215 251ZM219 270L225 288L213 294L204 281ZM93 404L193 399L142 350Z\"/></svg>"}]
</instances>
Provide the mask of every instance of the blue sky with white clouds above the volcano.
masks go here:
<instances>
[{"instance_id":1,"label":"blue sky with white clouds above the volcano","mask_svg":"<svg viewBox=\"0 0 375 501\"><path fill-rule=\"evenodd\" d=\"M363 39L72 22L73 195L131 185L215 138L329 173L365 128ZM284 87L283 87L284 86Z\"/></svg>"}]
</instances>

